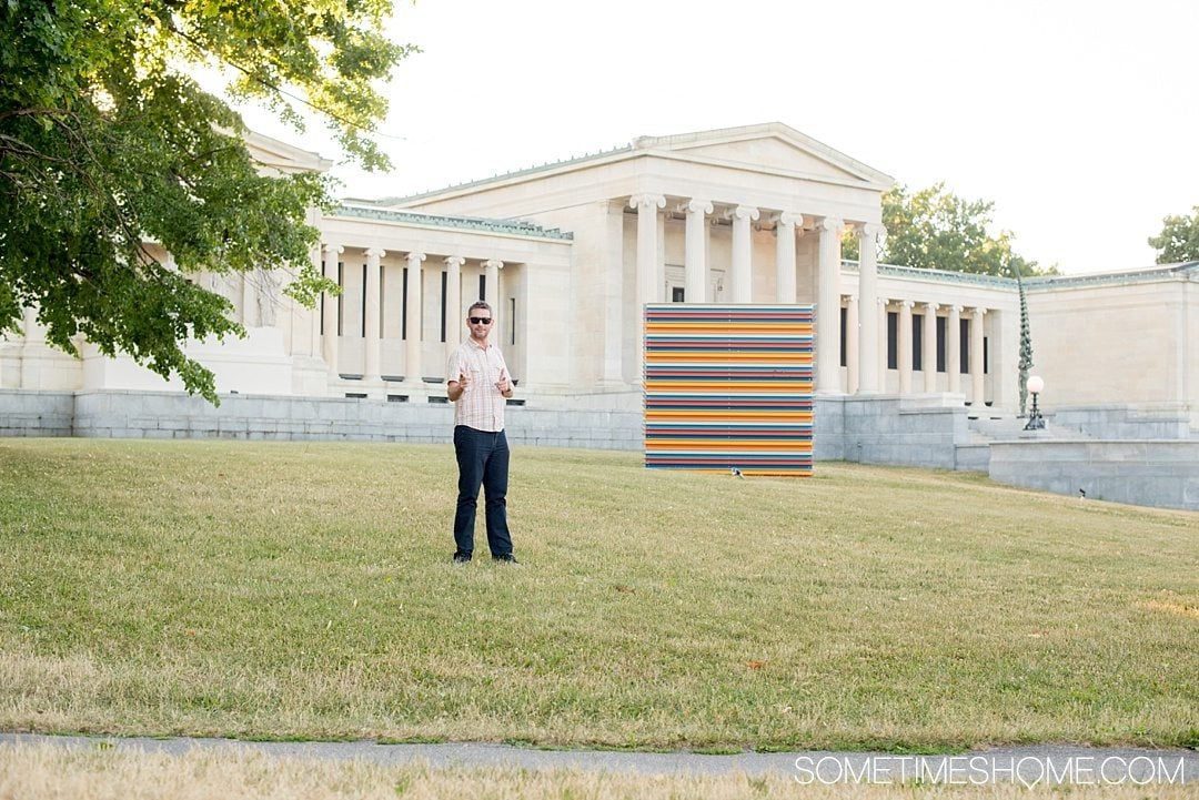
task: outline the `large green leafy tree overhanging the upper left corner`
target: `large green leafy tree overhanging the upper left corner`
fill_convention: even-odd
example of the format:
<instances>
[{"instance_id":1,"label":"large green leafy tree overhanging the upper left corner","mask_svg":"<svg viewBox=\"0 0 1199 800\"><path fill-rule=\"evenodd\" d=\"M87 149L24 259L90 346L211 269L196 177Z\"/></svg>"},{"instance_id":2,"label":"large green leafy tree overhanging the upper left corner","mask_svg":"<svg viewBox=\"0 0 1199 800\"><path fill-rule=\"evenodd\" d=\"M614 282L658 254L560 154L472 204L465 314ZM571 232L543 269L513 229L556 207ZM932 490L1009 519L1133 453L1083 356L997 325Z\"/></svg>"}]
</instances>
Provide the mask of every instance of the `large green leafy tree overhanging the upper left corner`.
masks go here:
<instances>
[{"instance_id":1,"label":"large green leafy tree overhanging the upper left corner","mask_svg":"<svg viewBox=\"0 0 1199 800\"><path fill-rule=\"evenodd\" d=\"M189 74L219 68L231 97L297 127L297 103L317 108L350 158L385 166L378 85L412 49L379 32L390 13L391 0L0 4L0 332L36 305L50 344L78 354L86 337L216 402L182 346L245 331L189 275L284 268L287 292L314 304L336 287L305 219L330 186L260 175L240 116Z\"/></svg>"}]
</instances>

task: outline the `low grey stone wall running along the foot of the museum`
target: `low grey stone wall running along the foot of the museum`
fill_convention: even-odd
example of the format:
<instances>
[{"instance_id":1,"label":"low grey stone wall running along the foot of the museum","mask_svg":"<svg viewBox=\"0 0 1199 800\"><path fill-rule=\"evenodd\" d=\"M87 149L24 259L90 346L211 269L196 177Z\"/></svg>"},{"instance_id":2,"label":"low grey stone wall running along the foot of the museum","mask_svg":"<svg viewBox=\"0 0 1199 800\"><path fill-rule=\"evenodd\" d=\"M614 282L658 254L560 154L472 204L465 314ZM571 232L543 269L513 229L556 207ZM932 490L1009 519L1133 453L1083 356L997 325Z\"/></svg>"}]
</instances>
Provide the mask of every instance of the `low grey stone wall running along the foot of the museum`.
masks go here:
<instances>
[{"instance_id":1,"label":"low grey stone wall running along the foot of the museum","mask_svg":"<svg viewBox=\"0 0 1199 800\"><path fill-rule=\"evenodd\" d=\"M1079 438L1054 424L1019 438L976 441L952 398L817 398L815 459L988 471L1000 483L1138 505L1199 510L1199 437ZM1119 420L1116 408L1107 419ZM1067 419L1076 419L1067 417ZM1125 416L1125 422L1129 417ZM1152 431L1145 420L1128 431ZM638 411L507 410L516 446L641 450ZM162 392L0 389L0 436L451 442L445 402L225 395L219 407ZM1107 430L1123 430L1107 428ZM1167 430L1174 430L1168 428ZM1073 438L1071 438L1073 437Z\"/></svg>"}]
</instances>

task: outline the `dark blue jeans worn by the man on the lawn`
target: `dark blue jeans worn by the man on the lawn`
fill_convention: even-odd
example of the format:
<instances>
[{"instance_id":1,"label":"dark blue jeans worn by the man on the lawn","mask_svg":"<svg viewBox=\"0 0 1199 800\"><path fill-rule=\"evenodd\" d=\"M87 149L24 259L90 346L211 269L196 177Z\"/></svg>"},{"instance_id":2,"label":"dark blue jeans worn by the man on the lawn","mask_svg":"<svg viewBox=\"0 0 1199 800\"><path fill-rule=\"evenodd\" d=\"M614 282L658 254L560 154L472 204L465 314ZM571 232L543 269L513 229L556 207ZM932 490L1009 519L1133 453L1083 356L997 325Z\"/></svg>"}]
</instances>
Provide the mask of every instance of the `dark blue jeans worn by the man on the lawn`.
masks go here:
<instances>
[{"instance_id":1,"label":"dark blue jeans worn by the man on the lawn","mask_svg":"<svg viewBox=\"0 0 1199 800\"><path fill-rule=\"evenodd\" d=\"M453 540L459 553L475 550L475 509L478 487L487 498L487 545L493 556L512 553L508 535L508 438L504 431L480 431L465 425L453 429L458 455L458 510L453 517Z\"/></svg>"}]
</instances>

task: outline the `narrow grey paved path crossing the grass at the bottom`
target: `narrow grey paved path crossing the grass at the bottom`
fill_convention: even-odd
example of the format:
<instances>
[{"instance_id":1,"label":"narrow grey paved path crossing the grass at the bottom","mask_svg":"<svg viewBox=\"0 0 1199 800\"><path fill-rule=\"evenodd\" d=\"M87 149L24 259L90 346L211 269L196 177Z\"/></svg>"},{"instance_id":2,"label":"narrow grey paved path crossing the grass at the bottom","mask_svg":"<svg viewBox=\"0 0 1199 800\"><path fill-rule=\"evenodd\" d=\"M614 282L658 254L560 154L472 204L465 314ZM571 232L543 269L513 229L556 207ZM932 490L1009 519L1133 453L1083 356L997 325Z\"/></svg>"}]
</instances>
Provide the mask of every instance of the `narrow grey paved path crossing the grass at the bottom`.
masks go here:
<instances>
[{"instance_id":1,"label":"narrow grey paved path crossing the grass at the bottom","mask_svg":"<svg viewBox=\"0 0 1199 800\"><path fill-rule=\"evenodd\" d=\"M144 739L116 737L48 737L0 733L0 745L52 743L95 747L101 743L125 751L182 754L193 750L251 751L281 758L361 759L378 764L423 760L432 766L517 766L584 769L643 775L783 775L799 783L899 783L921 778L944 783L1103 784L1199 782L1199 751L1043 745L976 750L957 756L806 751L745 752L704 756L673 752L608 750L535 750L508 745L458 743L380 745L351 743L259 743L231 739Z\"/></svg>"}]
</instances>

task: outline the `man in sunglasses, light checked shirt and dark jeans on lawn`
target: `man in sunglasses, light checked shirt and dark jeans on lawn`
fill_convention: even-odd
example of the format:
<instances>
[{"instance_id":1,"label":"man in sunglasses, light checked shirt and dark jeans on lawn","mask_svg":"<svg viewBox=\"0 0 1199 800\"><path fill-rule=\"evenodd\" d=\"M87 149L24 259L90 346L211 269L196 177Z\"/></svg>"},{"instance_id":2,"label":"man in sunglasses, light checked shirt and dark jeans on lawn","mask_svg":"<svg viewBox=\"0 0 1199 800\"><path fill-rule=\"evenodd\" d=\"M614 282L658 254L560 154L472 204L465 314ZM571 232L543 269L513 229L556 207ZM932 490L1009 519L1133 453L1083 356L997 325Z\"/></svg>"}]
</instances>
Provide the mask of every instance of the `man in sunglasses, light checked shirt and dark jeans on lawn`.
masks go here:
<instances>
[{"instance_id":1,"label":"man in sunglasses, light checked shirt and dark jeans on lawn","mask_svg":"<svg viewBox=\"0 0 1199 800\"><path fill-rule=\"evenodd\" d=\"M488 343L492 307L483 301L466 311L470 339L450 354L446 394L453 410L453 449L458 456L458 509L453 519L456 564L465 564L475 551L475 509L478 489L487 497L487 545L492 558L516 563L508 534L508 440L504 434L504 406L512 396L512 381L504 353Z\"/></svg>"}]
</instances>

